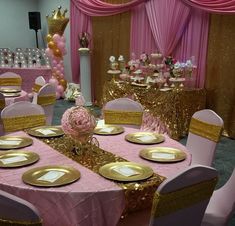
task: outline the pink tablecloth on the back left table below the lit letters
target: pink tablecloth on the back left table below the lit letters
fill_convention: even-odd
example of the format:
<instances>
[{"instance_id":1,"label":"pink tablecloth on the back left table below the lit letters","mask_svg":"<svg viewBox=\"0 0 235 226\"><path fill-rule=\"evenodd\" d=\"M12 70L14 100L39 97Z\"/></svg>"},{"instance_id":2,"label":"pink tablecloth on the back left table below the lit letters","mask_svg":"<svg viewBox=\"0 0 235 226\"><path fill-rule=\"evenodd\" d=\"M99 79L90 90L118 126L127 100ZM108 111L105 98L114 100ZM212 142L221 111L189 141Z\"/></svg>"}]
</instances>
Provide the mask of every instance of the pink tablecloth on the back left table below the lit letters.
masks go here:
<instances>
[{"instance_id":1,"label":"pink tablecloth on the back left table below the lit letters","mask_svg":"<svg viewBox=\"0 0 235 226\"><path fill-rule=\"evenodd\" d=\"M43 76L48 82L51 78L51 69L46 67L41 68L0 68L0 74L4 72L14 72L21 76L22 78L22 90L25 90L27 93L32 92L32 87L34 85L35 79L38 76Z\"/></svg>"}]
</instances>

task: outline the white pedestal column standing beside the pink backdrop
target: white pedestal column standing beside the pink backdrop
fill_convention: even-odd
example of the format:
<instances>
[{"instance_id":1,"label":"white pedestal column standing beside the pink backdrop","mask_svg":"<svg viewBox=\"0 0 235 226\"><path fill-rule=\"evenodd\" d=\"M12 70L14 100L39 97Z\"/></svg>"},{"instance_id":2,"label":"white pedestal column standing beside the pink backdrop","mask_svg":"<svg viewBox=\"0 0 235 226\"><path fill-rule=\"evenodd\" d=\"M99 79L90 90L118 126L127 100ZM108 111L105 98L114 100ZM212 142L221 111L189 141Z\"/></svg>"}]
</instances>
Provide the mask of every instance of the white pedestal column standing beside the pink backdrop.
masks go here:
<instances>
[{"instance_id":1,"label":"white pedestal column standing beside the pink backdrop","mask_svg":"<svg viewBox=\"0 0 235 226\"><path fill-rule=\"evenodd\" d=\"M90 50L88 48L80 48L80 86L81 93L85 98L85 106L92 105L91 99L91 63Z\"/></svg>"}]
</instances>

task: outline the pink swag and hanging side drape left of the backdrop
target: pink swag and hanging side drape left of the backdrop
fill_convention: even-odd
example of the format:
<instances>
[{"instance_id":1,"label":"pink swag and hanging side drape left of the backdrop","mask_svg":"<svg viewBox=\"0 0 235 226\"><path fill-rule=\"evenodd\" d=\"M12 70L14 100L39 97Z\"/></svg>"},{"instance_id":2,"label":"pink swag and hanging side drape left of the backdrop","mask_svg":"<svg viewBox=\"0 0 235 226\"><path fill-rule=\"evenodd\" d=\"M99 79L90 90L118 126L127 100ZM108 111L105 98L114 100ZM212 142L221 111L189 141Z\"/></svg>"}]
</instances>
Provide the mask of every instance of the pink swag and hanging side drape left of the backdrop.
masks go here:
<instances>
[{"instance_id":1,"label":"pink swag and hanging side drape left of the backdrop","mask_svg":"<svg viewBox=\"0 0 235 226\"><path fill-rule=\"evenodd\" d=\"M126 12L146 0L133 0L125 4L109 4L100 0L71 0L70 1L70 43L72 78L76 83L80 82L80 59L78 54L78 35L86 31L92 35L91 16L110 16ZM89 48L91 48L89 46Z\"/></svg>"}]
</instances>

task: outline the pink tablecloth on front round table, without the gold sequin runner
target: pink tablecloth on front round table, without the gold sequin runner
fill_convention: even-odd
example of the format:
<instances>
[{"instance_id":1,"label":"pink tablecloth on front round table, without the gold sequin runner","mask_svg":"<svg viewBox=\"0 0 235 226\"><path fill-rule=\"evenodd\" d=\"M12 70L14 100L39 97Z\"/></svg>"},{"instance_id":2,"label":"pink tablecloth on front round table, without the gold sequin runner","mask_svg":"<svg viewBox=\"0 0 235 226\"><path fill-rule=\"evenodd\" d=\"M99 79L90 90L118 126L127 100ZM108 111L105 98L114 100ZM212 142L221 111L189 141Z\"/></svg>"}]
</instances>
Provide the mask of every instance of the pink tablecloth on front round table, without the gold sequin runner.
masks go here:
<instances>
[{"instance_id":1,"label":"pink tablecloth on front round table, without the gold sequin runner","mask_svg":"<svg viewBox=\"0 0 235 226\"><path fill-rule=\"evenodd\" d=\"M124 134L117 136L96 136L100 147L116 153L130 161L150 165L156 173L170 176L177 170L184 169L191 162L187 159L175 164L156 164L138 157L144 145L131 144L124 140L125 134L134 132L127 129ZM14 133L24 135L23 132ZM33 145L24 150L34 151L40 155L40 160L34 165L0 169L0 189L22 197L33 203L41 213L44 224L48 226L115 226L125 207L124 192L114 182L106 180L78 163L68 159L48 145L33 138ZM161 146L185 148L178 142L166 137ZM38 188L24 184L21 175L34 167L45 165L69 165L81 172L77 182L57 188Z\"/></svg>"}]
</instances>

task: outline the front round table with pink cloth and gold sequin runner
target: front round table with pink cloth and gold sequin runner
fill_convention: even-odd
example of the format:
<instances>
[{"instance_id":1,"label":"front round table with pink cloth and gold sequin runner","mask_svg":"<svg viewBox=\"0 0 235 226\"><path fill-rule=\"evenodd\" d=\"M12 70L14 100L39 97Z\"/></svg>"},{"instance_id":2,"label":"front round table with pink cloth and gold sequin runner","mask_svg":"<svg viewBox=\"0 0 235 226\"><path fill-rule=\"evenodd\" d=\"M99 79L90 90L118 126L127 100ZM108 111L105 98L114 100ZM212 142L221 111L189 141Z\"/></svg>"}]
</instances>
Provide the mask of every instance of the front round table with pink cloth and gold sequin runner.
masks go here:
<instances>
[{"instance_id":1,"label":"front round table with pink cloth and gold sequin runner","mask_svg":"<svg viewBox=\"0 0 235 226\"><path fill-rule=\"evenodd\" d=\"M115 226L128 205L125 200L130 195L128 194L129 188L136 190L135 202L141 204L144 200L138 197L138 194L143 195L143 192L149 190L154 192L165 178L191 163L191 155L186 148L168 136L165 136L163 143L155 145L134 144L124 139L126 134L136 131L138 130L125 127L124 133L119 135L95 135L100 144L99 150L103 154L100 154L98 150L92 153L88 151L78 158L72 154L73 146L67 136L41 140L31 137L33 145L22 150L36 152L40 156L39 161L20 168L0 168L0 189L34 204L41 214L43 225L46 226ZM23 131L11 135L29 137ZM178 148L186 153L186 159L175 163L156 163L139 157L140 150L154 146ZM3 152L3 150L0 151ZM153 186L151 181L154 180L151 177L140 182L117 183L97 173L96 166L99 167L101 162L102 164L108 163L111 157L118 160L118 156L150 166L154 171L152 177L157 183ZM77 159L79 163L76 162ZM80 171L81 178L66 186L50 188L34 187L22 181L22 174L29 169L47 165L72 166ZM148 196L149 194L144 193L146 199Z\"/></svg>"}]
</instances>

